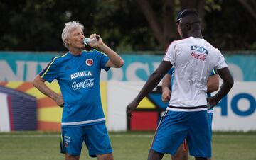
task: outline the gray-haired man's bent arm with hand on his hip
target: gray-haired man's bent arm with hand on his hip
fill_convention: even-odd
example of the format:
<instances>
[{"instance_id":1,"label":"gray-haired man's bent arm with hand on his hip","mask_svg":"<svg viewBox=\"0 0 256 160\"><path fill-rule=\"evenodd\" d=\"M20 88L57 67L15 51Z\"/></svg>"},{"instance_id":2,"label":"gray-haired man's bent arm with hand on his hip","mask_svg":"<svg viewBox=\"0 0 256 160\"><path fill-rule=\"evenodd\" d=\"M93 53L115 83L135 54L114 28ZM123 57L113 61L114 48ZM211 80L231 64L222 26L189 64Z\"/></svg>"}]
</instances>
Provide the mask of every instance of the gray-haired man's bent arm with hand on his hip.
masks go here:
<instances>
[{"instance_id":1,"label":"gray-haired man's bent arm with hand on his hip","mask_svg":"<svg viewBox=\"0 0 256 160\"><path fill-rule=\"evenodd\" d=\"M52 98L53 101L55 101L57 103L57 105L59 105L60 107L63 107L64 101L63 101L62 96L58 95L57 93L52 91L50 88L48 88L48 86L46 86L46 84L45 84L45 81L46 80L42 79L41 76L39 76L39 74L38 74L35 77L35 79L33 79L33 86L38 88L38 90L41 91L41 93Z\"/></svg>"}]
</instances>

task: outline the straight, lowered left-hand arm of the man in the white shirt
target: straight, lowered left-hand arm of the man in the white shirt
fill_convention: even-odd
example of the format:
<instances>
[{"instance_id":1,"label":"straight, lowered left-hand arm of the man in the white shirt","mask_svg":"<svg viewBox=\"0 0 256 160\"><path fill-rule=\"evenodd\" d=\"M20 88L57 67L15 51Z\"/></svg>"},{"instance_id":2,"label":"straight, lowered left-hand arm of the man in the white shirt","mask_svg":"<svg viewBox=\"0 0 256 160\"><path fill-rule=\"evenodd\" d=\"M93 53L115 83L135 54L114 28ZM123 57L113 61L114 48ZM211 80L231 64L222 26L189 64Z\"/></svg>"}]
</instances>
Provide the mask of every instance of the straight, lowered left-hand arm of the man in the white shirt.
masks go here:
<instances>
[{"instance_id":1,"label":"straight, lowered left-hand arm of the man in the white shirt","mask_svg":"<svg viewBox=\"0 0 256 160\"><path fill-rule=\"evenodd\" d=\"M134 98L134 100L127 105L127 116L131 117L132 110L137 108L139 102L150 92L152 91L157 84L161 81L164 75L171 69L171 63L167 61L162 61L159 67L154 71L149 79L144 84L142 90L139 92L138 96Z\"/></svg>"}]
</instances>

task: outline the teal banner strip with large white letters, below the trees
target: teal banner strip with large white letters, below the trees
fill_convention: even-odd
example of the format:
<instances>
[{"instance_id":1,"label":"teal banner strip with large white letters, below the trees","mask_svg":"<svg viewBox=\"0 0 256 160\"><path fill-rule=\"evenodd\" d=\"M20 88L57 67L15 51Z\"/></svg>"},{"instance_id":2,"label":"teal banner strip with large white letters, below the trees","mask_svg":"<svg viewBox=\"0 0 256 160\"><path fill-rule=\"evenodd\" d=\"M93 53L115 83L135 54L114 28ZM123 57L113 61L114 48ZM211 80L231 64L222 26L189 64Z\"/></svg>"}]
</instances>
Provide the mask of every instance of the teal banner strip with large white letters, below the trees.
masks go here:
<instances>
[{"instance_id":1,"label":"teal banner strip with large white letters, below the trees","mask_svg":"<svg viewBox=\"0 0 256 160\"><path fill-rule=\"evenodd\" d=\"M0 52L0 81L32 81L53 57L63 53ZM124 66L102 72L101 80L146 81L159 66L163 55L121 55ZM224 57L235 81L256 81L256 55L240 53Z\"/></svg>"}]
</instances>

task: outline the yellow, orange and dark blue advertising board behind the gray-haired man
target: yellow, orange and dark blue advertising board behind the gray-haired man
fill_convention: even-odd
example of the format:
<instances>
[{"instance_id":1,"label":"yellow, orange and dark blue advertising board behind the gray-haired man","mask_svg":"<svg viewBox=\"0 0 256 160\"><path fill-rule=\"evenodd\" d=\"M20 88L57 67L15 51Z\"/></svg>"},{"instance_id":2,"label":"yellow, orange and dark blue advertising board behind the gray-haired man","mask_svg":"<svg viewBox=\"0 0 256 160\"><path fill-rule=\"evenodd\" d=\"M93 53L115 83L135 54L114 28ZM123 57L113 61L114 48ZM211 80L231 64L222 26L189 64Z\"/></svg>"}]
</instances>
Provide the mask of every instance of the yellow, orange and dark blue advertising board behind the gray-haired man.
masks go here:
<instances>
[{"instance_id":1,"label":"yellow, orange and dark blue advertising board behind the gray-haired man","mask_svg":"<svg viewBox=\"0 0 256 160\"><path fill-rule=\"evenodd\" d=\"M57 81L46 86L60 93ZM107 118L107 84L100 83L102 107ZM60 131L63 108L38 91L32 82L0 82L0 132L11 130Z\"/></svg>"}]
</instances>

